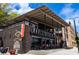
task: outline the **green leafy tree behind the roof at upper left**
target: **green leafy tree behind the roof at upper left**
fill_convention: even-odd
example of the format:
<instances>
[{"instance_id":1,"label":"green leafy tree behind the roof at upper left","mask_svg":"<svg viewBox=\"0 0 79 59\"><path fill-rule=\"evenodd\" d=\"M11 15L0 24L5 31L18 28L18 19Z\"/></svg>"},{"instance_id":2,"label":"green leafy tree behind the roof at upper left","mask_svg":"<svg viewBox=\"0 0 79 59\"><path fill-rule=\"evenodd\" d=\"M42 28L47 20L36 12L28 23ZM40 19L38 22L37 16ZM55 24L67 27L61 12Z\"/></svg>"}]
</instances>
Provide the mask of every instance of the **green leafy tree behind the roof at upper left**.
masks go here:
<instances>
[{"instance_id":1,"label":"green leafy tree behind the roof at upper left","mask_svg":"<svg viewBox=\"0 0 79 59\"><path fill-rule=\"evenodd\" d=\"M0 26L5 25L6 22L17 16L19 16L19 14L12 12L12 9L9 8L8 3L0 4Z\"/></svg>"}]
</instances>

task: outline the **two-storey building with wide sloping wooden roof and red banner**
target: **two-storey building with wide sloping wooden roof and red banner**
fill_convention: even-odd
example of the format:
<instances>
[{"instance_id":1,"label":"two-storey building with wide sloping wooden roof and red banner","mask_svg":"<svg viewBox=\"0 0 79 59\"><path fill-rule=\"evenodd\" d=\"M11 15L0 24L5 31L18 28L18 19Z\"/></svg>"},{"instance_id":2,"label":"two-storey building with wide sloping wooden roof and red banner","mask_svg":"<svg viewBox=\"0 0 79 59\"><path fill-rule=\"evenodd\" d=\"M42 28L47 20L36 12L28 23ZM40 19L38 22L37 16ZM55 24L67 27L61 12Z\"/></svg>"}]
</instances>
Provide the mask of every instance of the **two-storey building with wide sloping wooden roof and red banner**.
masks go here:
<instances>
[{"instance_id":1,"label":"two-storey building with wide sloping wooden roof and red banner","mask_svg":"<svg viewBox=\"0 0 79 59\"><path fill-rule=\"evenodd\" d=\"M3 47L17 48L19 53L29 50L73 48L75 32L70 24L42 6L1 26Z\"/></svg>"}]
</instances>

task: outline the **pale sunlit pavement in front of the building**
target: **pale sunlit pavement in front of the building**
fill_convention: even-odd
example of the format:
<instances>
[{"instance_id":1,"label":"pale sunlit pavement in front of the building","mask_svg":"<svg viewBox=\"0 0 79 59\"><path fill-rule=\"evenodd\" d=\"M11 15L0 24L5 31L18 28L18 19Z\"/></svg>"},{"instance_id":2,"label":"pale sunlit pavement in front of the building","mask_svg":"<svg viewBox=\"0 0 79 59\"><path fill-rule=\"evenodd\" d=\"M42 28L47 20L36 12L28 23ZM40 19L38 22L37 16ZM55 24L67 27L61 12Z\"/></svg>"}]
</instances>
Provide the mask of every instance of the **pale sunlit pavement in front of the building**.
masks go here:
<instances>
[{"instance_id":1,"label":"pale sunlit pavement in front of the building","mask_svg":"<svg viewBox=\"0 0 79 59\"><path fill-rule=\"evenodd\" d=\"M76 47L72 49L31 50L23 55L79 55Z\"/></svg>"}]
</instances>

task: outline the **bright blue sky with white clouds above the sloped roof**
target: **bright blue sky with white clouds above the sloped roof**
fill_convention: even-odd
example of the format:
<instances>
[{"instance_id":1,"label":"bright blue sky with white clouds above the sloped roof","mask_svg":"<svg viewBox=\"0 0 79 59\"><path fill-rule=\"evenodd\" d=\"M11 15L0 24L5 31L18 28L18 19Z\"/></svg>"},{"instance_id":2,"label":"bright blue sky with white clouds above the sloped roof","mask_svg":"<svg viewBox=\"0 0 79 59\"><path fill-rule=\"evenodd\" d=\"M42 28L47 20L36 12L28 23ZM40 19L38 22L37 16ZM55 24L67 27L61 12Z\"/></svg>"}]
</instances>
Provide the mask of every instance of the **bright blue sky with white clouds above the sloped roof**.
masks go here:
<instances>
[{"instance_id":1,"label":"bright blue sky with white clouds above the sloped roof","mask_svg":"<svg viewBox=\"0 0 79 59\"><path fill-rule=\"evenodd\" d=\"M70 21L73 27L73 20L75 20L79 32L79 3L10 3L12 11L21 15L42 5L46 5L66 22Z\"/></svg>"}]
</instances>

